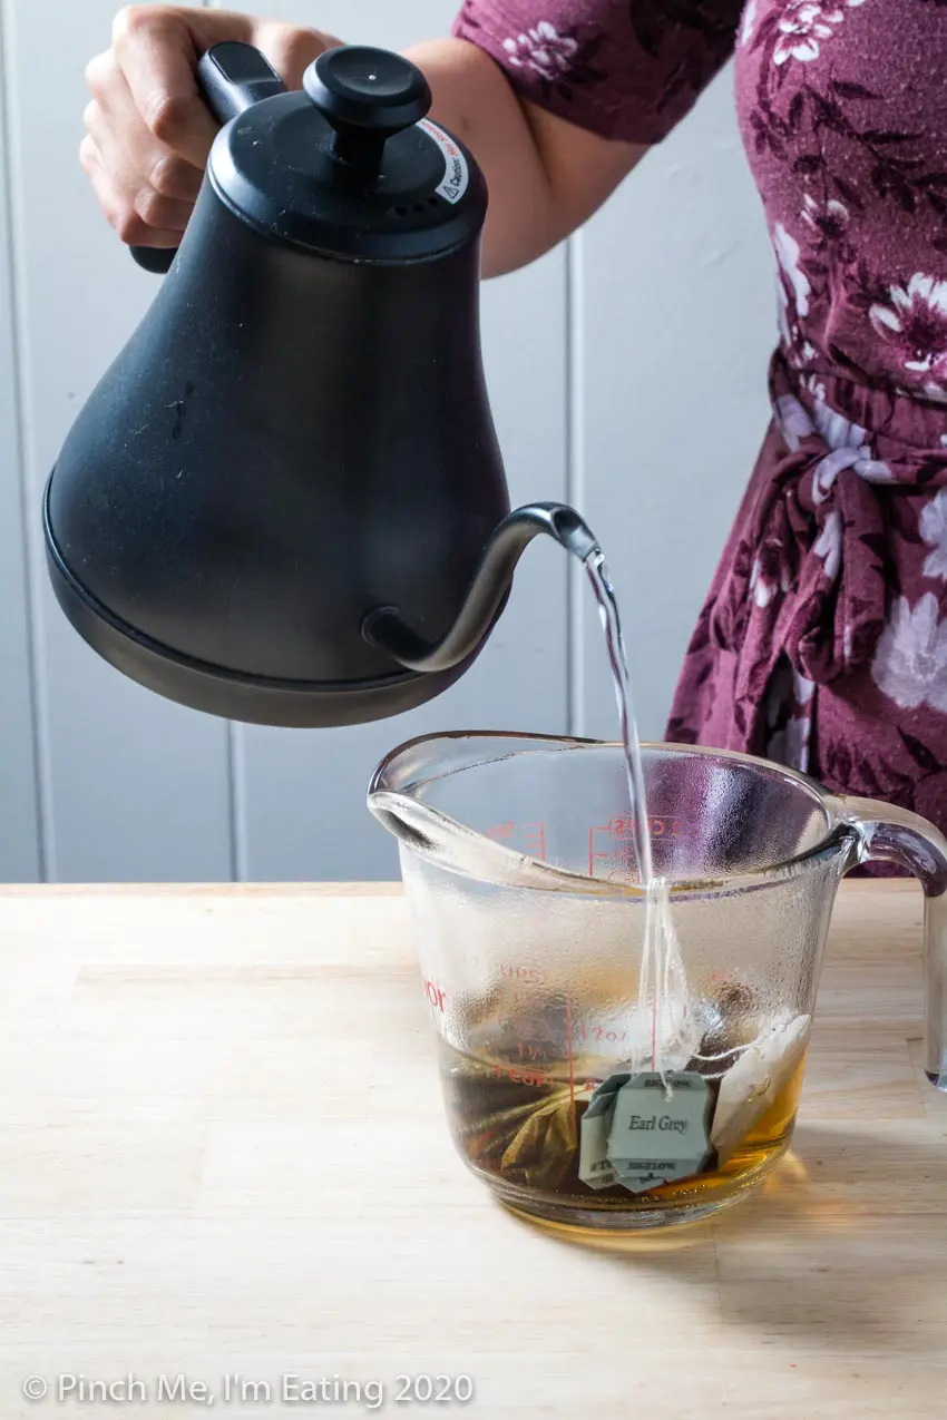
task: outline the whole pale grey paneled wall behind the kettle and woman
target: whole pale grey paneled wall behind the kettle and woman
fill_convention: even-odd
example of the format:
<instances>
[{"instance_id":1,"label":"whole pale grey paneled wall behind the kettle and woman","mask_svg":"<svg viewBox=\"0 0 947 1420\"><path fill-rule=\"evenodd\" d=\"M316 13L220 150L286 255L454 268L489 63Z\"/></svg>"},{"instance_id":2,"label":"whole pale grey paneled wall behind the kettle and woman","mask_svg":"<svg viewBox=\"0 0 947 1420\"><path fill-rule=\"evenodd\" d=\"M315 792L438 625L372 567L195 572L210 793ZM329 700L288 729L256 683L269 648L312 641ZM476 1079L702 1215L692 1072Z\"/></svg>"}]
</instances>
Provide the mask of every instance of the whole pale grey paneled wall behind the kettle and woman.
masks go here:
<instances>
[{"instance_id":1,"label":"whole pale grey paneled wall behind the kettle and woman","mask_svg":"<svg viewBox=\"0 0 947 1420\"><path fill-rule=\"evenodd\" d=\"M363 728L230 726L101 663L45 582L38 504L81 400L155 290L77 163L82 71L116 0L6 0L0 114L0 879L396 875L365 785L429 730L613 734L599 632L562 554L534 544L474 669ZM241 9L257 9L244 3ZM400 47L451 0L273 0L280 18ZM765 422L770 258L724 75L568 248L484 288L515 501L574 501L628 605L643 731L660 736L690 625Z\"/></svg>"}]
</instances>

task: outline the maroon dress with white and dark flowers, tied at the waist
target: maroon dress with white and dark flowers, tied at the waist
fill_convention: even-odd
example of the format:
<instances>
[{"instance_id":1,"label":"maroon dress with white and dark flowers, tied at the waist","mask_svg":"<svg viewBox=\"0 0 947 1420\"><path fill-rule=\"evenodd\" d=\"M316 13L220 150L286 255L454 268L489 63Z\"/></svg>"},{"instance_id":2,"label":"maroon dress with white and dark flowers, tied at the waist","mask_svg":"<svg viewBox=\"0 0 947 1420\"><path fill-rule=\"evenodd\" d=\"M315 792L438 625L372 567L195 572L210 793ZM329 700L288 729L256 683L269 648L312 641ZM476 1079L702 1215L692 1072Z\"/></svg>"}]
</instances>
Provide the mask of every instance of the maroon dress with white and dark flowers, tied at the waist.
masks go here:
<instances>
[{"instance_id":1,"label":"maroon dress with white and dark flowers, tied at the waist","mask_svg":"<svg viewBox=\"0 0 947 1420\"><path fill-rule=\"evenodd\" d=\"M947 829L947 0L467 0L454 33L637 143L735 51L781 339L667 738Z\"/></svg>"}]
</instances>

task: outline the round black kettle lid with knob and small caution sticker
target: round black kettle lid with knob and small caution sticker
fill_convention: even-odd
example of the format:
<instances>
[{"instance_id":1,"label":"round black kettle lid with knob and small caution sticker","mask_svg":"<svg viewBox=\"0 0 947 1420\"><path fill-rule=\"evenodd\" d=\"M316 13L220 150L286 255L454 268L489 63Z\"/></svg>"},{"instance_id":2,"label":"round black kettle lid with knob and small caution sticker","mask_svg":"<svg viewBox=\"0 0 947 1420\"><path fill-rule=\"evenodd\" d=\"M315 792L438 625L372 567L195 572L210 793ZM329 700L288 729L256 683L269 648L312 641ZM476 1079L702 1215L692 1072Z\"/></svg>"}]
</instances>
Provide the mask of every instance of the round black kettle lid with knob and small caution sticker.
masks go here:
<instances>
[{"instance_id":1,"label":"round black kettle lid with knob and small caution sticker","mask_svg":"<svg viewBox=\"0 0 947 1420\"><path fill-rule=\"evenodd\" d=\"M217 135L207 170L231 210L270 239L361 261L433 257L478 236L487 185L464 145L427 119L416 65L341 45L302 82Z\"/></svg>"}]
</instances>

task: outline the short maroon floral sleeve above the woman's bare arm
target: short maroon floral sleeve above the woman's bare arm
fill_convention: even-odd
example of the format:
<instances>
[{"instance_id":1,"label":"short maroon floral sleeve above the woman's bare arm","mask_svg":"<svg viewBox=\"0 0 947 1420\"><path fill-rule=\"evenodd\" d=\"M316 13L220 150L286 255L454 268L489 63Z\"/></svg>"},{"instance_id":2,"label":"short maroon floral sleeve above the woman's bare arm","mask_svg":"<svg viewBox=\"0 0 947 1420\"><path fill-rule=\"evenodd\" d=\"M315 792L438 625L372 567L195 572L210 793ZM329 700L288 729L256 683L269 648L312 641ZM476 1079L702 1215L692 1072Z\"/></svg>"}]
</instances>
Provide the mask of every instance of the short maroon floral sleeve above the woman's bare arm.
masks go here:
<instances>
[{"instance_id":1,"label":"short maroon floral sleeve above the woman's bare arm","mask_svg":"<svg viewBox=\"0 0 947 1420\"><path fill-rule=\"evenodd\" d=\"M524 98L605 138L657 143L734 47L743 0L464 0L453 33Z\"/></svg>"}]
</instances>

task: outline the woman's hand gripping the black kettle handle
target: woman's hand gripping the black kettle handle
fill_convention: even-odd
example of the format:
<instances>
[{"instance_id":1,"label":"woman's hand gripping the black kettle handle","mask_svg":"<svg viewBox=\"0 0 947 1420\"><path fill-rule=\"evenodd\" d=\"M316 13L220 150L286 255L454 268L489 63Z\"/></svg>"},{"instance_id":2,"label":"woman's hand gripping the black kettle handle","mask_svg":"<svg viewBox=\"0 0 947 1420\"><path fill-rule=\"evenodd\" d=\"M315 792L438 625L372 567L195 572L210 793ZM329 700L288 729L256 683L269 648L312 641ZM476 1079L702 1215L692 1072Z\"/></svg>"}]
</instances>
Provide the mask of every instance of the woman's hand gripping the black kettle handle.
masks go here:
<instances>
[{"instance_id":1,"label":"woman's hand gripping the black kettle handle","mask_svg":"<svg viewBox=\"0 0 947 1420\"><path fill-rule=\"evenodd\" d=\"M213 45L240 40L261 50L290 88L339 41L319 30L224 10L129 6L112 47L87 67L92 102L80 160L122 241L176 247L187 226L217 132L195 77Z\"/></svg>"}]
</instances>

